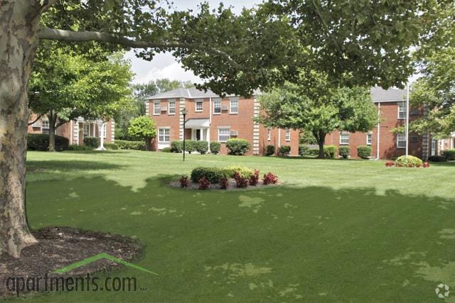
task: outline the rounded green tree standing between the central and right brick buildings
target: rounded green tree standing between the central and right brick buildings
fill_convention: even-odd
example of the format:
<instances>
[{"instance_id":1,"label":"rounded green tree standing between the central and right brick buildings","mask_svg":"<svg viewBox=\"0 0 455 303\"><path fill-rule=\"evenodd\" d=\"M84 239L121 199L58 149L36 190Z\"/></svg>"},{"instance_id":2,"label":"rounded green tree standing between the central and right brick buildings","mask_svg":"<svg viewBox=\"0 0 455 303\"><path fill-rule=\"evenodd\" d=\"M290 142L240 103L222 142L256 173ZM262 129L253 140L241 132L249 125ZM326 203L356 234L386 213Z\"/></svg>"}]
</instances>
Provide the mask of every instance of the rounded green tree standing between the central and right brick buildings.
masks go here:
<instances>
[{"instance_id":1,"label":"rounded green tree standing between the central and right brick buildings","mask_svg":"<svg viewBox=\"0 0 455 303\"><path fill-rule=\"evenodd\" d=\"M311 131L324 158L326 135L340 131L370 131L378 122L370 90L333 87L319 72L302 72L299 84L287 82L259 98L265 126Z\"/></svg>"}]
</instances>

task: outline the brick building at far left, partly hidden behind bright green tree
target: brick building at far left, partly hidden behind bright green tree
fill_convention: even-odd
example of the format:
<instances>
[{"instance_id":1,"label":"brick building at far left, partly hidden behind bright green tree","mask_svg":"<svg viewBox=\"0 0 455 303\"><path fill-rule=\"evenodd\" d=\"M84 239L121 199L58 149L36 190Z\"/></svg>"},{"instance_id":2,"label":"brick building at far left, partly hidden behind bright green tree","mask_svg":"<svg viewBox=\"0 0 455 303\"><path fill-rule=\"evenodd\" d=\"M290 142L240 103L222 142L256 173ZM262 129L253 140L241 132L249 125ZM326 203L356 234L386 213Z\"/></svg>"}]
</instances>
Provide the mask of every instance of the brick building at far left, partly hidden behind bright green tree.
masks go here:
<instances>
[{"instance_id":1,"label":"brick building at far left, partly hidden behind bright green tree","mask_svg":"<svg viewBox=\"0 0 455 303\"><path fill-rule=\"evenodd\" d=\"M28 126L28 133L49 133L49 120L46 116L38 116L32 114L28 123L33 124ZM102 126L101 126L102 125ZM68 138L70 144L82 145L85 137L99 137L100 127L104 128L104 142L114 143L114 121L102 123L102 121L85 121L83 118L77 118L74 121L69 121L58 127L55 134Z\"/></svg>"}]
</instances>

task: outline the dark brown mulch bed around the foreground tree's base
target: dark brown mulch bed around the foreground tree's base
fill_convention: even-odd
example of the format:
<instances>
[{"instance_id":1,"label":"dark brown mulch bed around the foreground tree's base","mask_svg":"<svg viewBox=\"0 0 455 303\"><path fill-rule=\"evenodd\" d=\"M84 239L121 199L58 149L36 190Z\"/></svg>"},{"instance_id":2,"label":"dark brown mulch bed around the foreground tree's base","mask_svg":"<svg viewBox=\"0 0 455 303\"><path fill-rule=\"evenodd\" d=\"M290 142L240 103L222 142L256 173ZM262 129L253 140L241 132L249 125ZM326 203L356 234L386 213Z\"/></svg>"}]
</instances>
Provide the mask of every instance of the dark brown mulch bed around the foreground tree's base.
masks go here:
<instances>
[{"instance_id":1,"label":"dark brown mulch bed around the foreground tree's base","mask_svg":"<svg viewBox=\"0 0 455 303\"><path fill-rule=\"evenodd\" d=\"M132 238L70 227L43 228L34 231L33 235L38 243L24 248L21 258L0 255L0 299L16 295L6 287L8 277L43 277L45 274L48 277L86 277L123 265L102 259L65 274L51 272L99 253L130 262L144 252L144 246Z\"/></svg>"}]
</instances>

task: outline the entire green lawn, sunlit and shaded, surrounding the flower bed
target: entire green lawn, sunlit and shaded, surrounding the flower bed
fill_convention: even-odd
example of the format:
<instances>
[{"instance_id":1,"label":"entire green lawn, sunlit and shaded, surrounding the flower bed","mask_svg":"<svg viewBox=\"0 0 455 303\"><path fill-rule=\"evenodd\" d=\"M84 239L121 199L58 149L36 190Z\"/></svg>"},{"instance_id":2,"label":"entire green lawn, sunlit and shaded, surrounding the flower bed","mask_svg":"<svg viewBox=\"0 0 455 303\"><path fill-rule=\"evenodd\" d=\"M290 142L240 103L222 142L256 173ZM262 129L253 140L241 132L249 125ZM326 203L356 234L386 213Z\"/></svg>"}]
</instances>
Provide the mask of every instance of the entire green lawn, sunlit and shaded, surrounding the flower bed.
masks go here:
<instances>
[{"instance_id":1,"label":"entire green lawn, sunlit and shaded, surrounding the flower bed","mask_svg":"<svg viewBox=\"0 0 455 303\"><path fill-rule=\"evenodd\" d=\"M272 171L282 187L183 191L199 165ZM28 153L33 228L75 226L139 238L146 292L72 292L38 301L437 302L455 290L455 163L181 155ZM451 292L449 299L455 299Z\"/></svg>"}]
</instances>

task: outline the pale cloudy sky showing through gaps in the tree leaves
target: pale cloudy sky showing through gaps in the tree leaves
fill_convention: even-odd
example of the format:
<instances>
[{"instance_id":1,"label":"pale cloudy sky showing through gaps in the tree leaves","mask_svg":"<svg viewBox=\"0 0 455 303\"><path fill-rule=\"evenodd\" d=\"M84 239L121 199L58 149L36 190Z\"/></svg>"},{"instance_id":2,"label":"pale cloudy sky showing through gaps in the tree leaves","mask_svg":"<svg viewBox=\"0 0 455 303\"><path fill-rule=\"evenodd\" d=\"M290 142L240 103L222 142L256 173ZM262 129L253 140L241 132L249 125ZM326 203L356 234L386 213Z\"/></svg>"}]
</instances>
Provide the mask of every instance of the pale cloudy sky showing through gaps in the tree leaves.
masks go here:
<instances>
[{"instance_id":1,"label":"pale cloudy sky showing through gaps in the tree leaves","mask_svg":"<svg viewBox=\"0 0 455 303\"><path fill-rule=\"evenodd\" d=\"M250 8L255 4L261 3L262 0L208 0L210 7L213 8L217 7L220 2L223 2L225 6L233 6L233 11L240 13L242 7ZM200 1L173 0L173 6L179 11L186 9L196 10L199 3ZM132 70L136 74L133 80L134 83L146 83L150 80L162 78L200 82L200 79L193 72L183 70L171 53L156 54L153 60L146 61L136 57L134 51L131 50L126 54L126 57L131 60Z\"/></svg>"}]
</instances>

